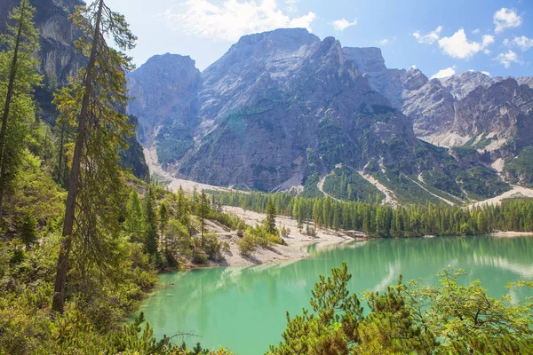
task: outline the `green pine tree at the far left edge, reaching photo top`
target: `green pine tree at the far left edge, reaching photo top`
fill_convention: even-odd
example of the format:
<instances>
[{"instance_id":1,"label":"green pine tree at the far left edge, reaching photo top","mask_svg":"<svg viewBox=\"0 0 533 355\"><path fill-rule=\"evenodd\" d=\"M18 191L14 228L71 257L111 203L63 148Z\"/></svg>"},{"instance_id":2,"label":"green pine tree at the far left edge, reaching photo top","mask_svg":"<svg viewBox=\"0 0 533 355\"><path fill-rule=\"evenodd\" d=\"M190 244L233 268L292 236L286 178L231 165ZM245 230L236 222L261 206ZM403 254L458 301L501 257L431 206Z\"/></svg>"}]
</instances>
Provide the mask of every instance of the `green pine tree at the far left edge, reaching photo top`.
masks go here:
<instances>
[{"instance_id":1,"label":"green pine tree at the far left edge, reaching photo top","mask_svg":"<svg viewBox=\"0 0 533 355\"><path fill-rule=\"evenodd\" d=\"M0 217L5 192L12 187L26 148L28 124L35 119L33 90L42 79L33 57L39 49L34 13L29 0L21 0L13 9L9 19L14 25L8 24L8 35L3 37L6 50L0 52Z\"/></svg>"}]
</instances>

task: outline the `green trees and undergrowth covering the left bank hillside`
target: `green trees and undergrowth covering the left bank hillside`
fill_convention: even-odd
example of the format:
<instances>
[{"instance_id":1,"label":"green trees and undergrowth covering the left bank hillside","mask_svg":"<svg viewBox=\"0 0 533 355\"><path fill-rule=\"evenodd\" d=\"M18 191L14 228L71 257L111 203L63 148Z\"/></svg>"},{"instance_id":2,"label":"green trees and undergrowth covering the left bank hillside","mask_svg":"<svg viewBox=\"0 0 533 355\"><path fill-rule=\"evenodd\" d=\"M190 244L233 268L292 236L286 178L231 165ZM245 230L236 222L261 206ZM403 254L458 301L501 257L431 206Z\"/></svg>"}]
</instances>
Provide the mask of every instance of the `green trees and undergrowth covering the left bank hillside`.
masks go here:
<instances>
[{"instance_id":1,"label":"green trees and undergrowth covering the left bank hillside","mask_svg":"<svg viewBox=\"0 0 533 355\"><path fill-rule=\"evenodd\" d=\"M158 268L219 258L226 247L208 233L198 242L195 196L121 168L132 124L116 107L127 101L131 65L103 38L131 49L134 36L105 1L77 9L77 46L91 57L69 86L49 85L60 112L51 129L34 109L34 12L20 1L0 47L0 353L215 353L157 341L142 317L120 326L155 287ZM203 212L234 221L211 206Z\"/></svg>"}]
</instances>

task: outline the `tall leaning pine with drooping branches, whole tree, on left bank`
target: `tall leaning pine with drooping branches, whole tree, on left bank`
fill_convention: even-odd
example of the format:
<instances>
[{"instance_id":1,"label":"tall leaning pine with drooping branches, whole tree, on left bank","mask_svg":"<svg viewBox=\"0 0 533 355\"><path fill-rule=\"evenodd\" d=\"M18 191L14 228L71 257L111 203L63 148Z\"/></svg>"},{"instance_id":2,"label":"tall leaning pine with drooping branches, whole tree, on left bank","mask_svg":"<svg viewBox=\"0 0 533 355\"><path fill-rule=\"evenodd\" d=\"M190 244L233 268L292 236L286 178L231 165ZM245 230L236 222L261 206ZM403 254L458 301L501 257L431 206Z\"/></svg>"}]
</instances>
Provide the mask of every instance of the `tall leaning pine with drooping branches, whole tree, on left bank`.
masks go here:
<instances>
[{"instance_id":1,"label":"tall leaning pine with drooping branches, whole tree, on left bank","mask_svg":"<svg viewBox=\"0 0 533 355\"><path fill-rule=\"evenodd\" d=\"M131 130L127 116L116 109L127 103L124 73L132 65L131 58L107 46L106 37L122 51L132 49L136 40L123 15L111 11L104 0L77 7L72 19L84 32L76 46L89 59L54 99L60 112L76 113L72 120L77 118L52 302L56 312L63 312L71 249L77 253L76 263L97 264L103 271L111 269L115 256L123 199L118 150L124 146L124 132Z\"/></svg>"}]
</instances>

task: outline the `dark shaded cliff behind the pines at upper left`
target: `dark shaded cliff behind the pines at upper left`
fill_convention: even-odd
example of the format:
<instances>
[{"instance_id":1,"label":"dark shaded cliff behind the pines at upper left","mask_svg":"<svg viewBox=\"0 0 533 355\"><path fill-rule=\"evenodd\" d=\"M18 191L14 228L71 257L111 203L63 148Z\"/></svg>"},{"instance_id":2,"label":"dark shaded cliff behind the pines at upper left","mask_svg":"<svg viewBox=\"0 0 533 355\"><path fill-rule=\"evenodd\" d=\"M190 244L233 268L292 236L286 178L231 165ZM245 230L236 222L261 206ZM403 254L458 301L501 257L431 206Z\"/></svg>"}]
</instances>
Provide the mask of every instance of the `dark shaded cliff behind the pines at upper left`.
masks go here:
<instances>
[{"instance_id":1,"label":"dark shaded cliff behind the pines at upper left","mask_svg":"<svg viewBox=\"0 0 533 355\"><path fill-rule=\"evenodd\" d=\"M53 92L67 85L68 78L76 75L78 69L86 63L86 58L76 51L74 45L81 32L69 20L75 7L84 2L80 0L31 0L30 3L36 8L34 20L40 33L41 46L36 54L40 59L40 72L44 75L44 85L37 87L35 92L39 106L37 112L44 122L52 126L58 115L56 107L52 104ZM5 33L9 13L19 5L20 0L0 2L0 34ZM134 119L131 123L137 124ZM147 163L142 154L142 147L135 137L126 138L126 141L130 147L121 153L123 167L132 169L137 177L146 177Z\"/></svg>"}]
</instances>

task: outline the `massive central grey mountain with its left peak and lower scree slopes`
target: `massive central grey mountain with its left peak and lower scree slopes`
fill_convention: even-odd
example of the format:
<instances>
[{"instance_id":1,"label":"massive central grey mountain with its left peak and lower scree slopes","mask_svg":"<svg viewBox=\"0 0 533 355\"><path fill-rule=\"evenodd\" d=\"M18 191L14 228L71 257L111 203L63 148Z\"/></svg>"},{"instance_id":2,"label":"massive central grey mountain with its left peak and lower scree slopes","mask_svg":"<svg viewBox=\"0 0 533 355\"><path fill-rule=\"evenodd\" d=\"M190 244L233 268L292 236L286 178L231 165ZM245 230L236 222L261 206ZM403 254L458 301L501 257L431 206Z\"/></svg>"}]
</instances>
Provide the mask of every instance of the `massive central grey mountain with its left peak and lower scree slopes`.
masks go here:
<instances>
[{"instance_id":1,"label":"massive central grey mountain with its left peak and lower scree slopes","mask_svg":"<svg viewBox=\"0 0 533 355\"><path fill-rule=\"evenodd\" d=\"M413 74L387 69L378 48L277 29L243 36L203 73L188 57L148 60L128 76L129 113L165 169L212 185L313 195L339 177L330 192L376 195L375 178L399 200L451 203L505 190L479 159L416 137L405 91L442 84Z\"/></svg>"}]
</instances>

